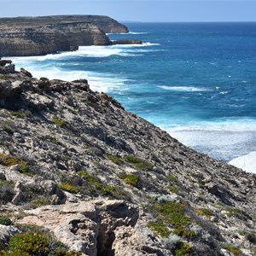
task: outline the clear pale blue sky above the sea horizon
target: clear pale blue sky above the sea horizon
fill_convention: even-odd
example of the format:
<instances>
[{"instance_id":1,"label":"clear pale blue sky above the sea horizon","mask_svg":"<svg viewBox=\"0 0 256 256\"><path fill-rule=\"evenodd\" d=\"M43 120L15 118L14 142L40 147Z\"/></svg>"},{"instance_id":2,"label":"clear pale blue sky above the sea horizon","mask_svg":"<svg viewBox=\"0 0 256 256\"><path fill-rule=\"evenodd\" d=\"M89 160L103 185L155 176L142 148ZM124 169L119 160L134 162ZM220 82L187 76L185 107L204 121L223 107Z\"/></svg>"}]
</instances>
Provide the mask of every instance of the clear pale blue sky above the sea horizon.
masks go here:
<instances>
[{"instance_id":1,"label":"clear pale blue sky above the sea horizon","mask_svg":"<svg viewBox=\"0 0 256 256\"><path fill-rule=\"evenodd\" d=\"M0 16L108 15L119 21L256 21L256 0L0 0Z\"/></svg>"}]
</instances>

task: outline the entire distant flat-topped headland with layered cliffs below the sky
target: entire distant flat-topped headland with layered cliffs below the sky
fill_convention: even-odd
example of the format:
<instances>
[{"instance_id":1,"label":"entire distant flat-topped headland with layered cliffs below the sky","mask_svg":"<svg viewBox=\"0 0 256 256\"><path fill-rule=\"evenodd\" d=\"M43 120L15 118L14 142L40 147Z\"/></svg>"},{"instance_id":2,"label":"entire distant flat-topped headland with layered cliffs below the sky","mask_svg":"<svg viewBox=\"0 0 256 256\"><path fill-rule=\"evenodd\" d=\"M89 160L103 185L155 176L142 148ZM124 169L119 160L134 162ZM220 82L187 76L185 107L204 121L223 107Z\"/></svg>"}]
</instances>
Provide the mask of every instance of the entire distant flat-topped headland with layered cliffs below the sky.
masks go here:
<instances>
[{"instance_id":1,"label":"entire distant flat-topped headland with layered cliffs below the sky","mask_svg":"<svg viewBox=\"0 0 256 256\"><path fill-rule=\"evenodd\" d=\"M0 56L47 55L82 45L112 44L106 32L128 32L107 16L68 15L0 19Z\"/></svg>"}]
</instances>

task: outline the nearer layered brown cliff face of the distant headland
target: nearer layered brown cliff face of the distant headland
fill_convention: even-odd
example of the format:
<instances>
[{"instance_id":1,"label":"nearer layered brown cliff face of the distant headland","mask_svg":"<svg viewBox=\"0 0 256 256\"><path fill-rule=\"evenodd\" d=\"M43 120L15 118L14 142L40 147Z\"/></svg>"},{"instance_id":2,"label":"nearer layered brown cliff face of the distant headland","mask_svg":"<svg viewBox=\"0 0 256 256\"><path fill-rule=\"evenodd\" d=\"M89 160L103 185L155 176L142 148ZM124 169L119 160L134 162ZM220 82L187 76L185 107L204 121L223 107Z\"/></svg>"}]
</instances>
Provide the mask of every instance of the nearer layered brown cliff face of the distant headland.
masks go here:
<instances>
[{"instance_id":1,"label":"nearer layered brown cliff face of the distant headland","mask_svg":"<svg viewBox=\"0 0 256 256\"><path fill-rule=\"evenodd\" d=\"M0 26L0 35L0 56L46 55L78 49L79 45L111 44L98 26L87 22Z\"/></svg>"}]
</instances>

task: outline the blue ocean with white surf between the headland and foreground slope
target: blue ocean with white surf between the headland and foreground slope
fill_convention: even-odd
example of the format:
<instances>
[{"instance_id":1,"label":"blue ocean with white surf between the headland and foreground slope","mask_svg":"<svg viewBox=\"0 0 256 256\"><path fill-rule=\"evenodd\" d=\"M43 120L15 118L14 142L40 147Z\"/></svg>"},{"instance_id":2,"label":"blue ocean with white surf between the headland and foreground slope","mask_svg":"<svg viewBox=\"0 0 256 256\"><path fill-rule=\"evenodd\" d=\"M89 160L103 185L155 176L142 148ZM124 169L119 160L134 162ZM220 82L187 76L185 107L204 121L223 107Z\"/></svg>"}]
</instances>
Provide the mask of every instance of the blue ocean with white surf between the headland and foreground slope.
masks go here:
<instances>
[{"instance_id":1,"label":"blue ocean with white surf between the headland and foreground slope","mask_svg":"<svg viewBox=\"0 0 256 256\"><path fill-rule=\"evenodd\" d=\"M256 172L256 23L125 23L142 45L13 57L36 78L88 79L185 145ZM247 165L249 163L249 165Z\"/></svg>"}]
</instances>

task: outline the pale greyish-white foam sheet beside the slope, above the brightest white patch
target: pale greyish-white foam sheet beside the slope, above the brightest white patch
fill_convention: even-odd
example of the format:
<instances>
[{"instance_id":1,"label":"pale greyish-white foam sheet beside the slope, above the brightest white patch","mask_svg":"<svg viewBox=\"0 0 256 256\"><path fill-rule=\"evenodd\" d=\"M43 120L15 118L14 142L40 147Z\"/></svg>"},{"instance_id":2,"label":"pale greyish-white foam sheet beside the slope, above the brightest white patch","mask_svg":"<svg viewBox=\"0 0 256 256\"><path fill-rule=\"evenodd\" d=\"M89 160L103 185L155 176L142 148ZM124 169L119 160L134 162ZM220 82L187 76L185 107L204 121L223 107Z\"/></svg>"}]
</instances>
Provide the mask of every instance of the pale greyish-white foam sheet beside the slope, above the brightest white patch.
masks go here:
<instances>
[{"instance_id":1,"label":"pale greyish-white foam sheet beside the slope, above the brightest white patch","mask_svg":"<svg viewBox=\"0 0 256 256\"><path fill-rule=\"evenodd\" d=\"M256 120L253 125L230 121L222 124L209 122L205 125L199 122L190 127L186 125L165 130L179 142L226 162L256 151Z\"/></svg>"}]
</instances>

